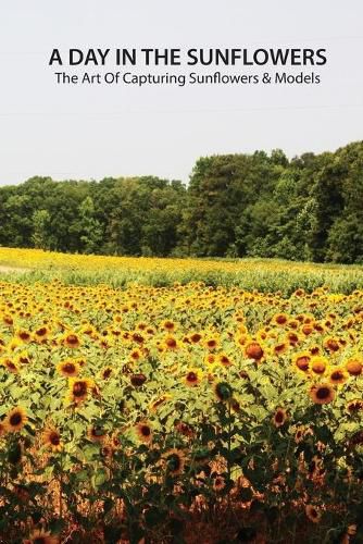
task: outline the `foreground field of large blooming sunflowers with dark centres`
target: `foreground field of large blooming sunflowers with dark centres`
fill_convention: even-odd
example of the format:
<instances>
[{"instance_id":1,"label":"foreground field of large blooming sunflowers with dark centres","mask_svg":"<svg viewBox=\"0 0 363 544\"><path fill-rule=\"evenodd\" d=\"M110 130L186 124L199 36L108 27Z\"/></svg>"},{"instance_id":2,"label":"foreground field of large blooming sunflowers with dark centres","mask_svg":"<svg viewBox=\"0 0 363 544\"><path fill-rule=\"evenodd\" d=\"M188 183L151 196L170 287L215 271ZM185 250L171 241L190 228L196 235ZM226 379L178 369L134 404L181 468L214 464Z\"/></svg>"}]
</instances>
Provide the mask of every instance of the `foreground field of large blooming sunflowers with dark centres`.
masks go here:
<instances>
[{"instance_id":1,"label":"foreground field of large blooming sunflowers with dark centres","mask_svg":"<svg viewBox=\"0 0 363 544\"><path fill-rule=\"evenodd\" d=\"M0 542L363 542L363 290L0 281Z\"/></svg>"}]
</instances>

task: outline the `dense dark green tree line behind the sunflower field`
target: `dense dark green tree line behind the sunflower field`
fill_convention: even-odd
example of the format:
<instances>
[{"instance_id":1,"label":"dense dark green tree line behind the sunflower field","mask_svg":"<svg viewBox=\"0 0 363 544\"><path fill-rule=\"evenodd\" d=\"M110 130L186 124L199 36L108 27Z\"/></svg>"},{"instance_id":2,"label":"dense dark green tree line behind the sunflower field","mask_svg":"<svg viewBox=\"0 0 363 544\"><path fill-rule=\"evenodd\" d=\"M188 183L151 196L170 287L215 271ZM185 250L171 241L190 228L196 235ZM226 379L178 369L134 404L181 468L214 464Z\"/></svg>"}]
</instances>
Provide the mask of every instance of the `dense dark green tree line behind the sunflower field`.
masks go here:
<instances>
[{"instance_id":1,"label":"dense dark green tree line behind the sunflower field","mask_svg":"<svg viewBox=\"0 0 363 544\"><path fill-rule=\"evenodd\" d=\"M0 187L0 245L363 262L363 141L291 160L278 149L205 157L188 185L35 176Z\"/></svg>"}]
</instances>

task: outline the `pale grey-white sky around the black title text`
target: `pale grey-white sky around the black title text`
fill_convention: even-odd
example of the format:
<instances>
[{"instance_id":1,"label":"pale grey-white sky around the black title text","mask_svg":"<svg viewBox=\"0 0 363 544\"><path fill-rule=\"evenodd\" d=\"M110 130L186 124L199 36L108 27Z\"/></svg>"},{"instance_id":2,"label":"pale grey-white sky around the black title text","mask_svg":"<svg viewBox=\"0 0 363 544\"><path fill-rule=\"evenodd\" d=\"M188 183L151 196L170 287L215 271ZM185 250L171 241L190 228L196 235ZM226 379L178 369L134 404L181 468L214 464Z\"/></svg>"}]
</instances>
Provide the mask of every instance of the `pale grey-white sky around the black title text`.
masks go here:
<instances>
[{"instance_id":1,"label":"pale grey-white sky around the black title text","mask_svg":"<svg viewBox=\"0 0 363 544\"><path fill-rule=\"evenodd\" d=\"M275 148L293 157L363 139L362 21L361 0L1 2L0 185L34 175L187 182L199 157ZM328 62L304 69L320 85L57 85L53 48L97 47L326 48ZM179 70L190 67L159 72Z\"/></svg>"}]
</instances>

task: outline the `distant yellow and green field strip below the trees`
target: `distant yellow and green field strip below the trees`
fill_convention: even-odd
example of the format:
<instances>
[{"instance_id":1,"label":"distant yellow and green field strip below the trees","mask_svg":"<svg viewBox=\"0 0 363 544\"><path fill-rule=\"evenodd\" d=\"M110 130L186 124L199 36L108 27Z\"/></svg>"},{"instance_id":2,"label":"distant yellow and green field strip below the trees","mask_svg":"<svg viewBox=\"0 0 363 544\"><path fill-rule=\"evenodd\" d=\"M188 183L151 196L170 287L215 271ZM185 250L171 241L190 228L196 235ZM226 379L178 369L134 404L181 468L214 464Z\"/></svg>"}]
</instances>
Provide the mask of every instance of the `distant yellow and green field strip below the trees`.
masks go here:
<instances>
[{"instance_id":1,"label":"distant yellow and green field strip below the trees","mask_svg":"<svg viewBox=\"0 0 363 544\"><path fill-rule=\"evenodd\" d=\"M363 287L363 267L315 264L270 259L161 259L66 255L38 249L0 248L0 273L26 274L27 281L62 279L66 284L105 283L114 287L137 282L167 286L203 281L260 292L327 287L352 293Z\"/></svg>"}]
</instances>

